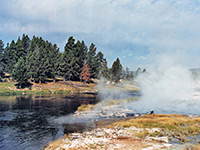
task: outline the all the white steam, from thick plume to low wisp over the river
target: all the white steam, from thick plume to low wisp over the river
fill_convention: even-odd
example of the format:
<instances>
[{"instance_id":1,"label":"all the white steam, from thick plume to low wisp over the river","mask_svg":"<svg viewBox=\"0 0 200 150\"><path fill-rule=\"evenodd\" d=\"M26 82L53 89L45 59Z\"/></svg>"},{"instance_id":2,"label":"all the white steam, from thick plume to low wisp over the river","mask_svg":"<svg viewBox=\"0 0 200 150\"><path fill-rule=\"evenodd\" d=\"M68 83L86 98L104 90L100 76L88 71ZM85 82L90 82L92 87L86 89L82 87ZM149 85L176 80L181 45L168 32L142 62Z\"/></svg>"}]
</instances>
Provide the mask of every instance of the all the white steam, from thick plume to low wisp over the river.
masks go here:
<instances>
[{"instance_id":1,"label":"all the white steam, from thick plume to low wisp over the river","mask_svg":"<svg viewBox=\"0 0 200 150\"><path fill-rule=\"evenodd\" d=\"M198 72L193 70L196 74L194 78L192 71L180 65L181 63L177 62L177 59L170 56L160 58L156 65L147 69L145 73L141 73L134 83L130 81L106 84L105 79L100 80L97 89L101 102L85 117L80 119L70 114L54 121L59 124L89 124L94 118L98 118L98 114L102 110L106 110L108 113L112 111L125 112L127 109L124 108L135 113L148 113L154 110L155 113L164 114L200 115ZM138 93L130 90L136 85L141 90ZM136 97L139 99L135 100Z\"/></svg>"}]
</instances>

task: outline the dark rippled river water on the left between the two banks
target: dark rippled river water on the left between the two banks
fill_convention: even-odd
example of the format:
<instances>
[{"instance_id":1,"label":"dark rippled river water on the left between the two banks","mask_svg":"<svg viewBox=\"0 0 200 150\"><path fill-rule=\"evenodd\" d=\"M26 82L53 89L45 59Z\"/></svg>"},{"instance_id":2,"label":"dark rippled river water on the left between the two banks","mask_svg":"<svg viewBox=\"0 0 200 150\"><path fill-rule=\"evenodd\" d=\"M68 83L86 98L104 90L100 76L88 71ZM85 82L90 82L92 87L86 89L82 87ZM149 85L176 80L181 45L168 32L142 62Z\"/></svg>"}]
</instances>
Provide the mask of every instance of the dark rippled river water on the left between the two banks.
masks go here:
<instances>
[{"instance_id":1,"label":"dark rippled river water on the left between the two banks","mask_svg":"<svg viewBox=\"0 0 200 150\"><path fill-rule=\"evenodd\" d=\"M39 150L73 127L54 120L74 113L81 104L94 104L95 95L1 96L0 149ZM69 130L68 130L69 129Z\"/></svg>"}]
</instances>

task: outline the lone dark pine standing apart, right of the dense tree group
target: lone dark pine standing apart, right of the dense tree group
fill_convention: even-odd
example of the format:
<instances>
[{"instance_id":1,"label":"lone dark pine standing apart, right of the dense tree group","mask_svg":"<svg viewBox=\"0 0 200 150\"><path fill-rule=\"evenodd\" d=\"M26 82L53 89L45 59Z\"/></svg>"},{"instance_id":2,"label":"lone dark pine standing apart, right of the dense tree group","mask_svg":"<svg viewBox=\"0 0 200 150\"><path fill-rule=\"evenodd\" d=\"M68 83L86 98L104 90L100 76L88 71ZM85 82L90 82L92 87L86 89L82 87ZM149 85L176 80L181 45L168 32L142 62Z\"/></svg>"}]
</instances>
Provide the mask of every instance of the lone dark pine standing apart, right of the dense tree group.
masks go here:
<instances>
[{"instance_id":1,"label":"lone dark pine standing apart, right of the dense tree group","mask_svg":"<svg viewBox=\"0 0 200 150\"><path fill-rule=\"evenodd\" d=\"M119 82L122 76L122 65L120 64L119 58L114 61L112 65L112 80L116 83Z\"/></svg>"}]
</instances>

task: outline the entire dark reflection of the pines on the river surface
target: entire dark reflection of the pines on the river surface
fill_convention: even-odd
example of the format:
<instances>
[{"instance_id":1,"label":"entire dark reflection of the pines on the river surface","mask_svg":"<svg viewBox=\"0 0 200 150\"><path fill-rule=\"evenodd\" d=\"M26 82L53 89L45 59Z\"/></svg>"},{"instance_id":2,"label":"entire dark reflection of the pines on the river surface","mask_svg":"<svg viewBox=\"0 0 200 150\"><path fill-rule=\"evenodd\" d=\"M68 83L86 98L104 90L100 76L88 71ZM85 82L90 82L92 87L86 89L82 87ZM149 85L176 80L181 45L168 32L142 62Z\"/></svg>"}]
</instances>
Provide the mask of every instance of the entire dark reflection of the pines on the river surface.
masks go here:
<instances>
[{"instance_id":1,"label":"entire dark reflection of the pines on the river surface","mask_svg":"<svg viewBox=\"0 0 200 150\"><path fill-rule=\"evenodd\" d=\"M17 96L16 103L12 110L16 117L10 122L19 137L30 139L42 139L45 136L55 137L58 133L58 127L49 121L51 117L57 117L73 113L83 103L96 103L95 97L49 96L41 99L32 96Z\"/></svg>"}]
</instances>

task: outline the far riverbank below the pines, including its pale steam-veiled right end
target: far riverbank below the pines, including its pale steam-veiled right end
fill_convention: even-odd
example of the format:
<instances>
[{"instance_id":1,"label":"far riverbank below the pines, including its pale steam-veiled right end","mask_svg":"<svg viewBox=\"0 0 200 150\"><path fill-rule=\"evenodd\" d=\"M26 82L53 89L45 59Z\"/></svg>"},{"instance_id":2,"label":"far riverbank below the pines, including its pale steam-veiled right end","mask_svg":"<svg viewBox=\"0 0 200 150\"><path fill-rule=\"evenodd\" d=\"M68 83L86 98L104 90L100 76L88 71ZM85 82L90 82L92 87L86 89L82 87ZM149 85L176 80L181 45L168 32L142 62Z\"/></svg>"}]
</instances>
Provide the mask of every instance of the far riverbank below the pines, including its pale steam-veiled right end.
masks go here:
<instances>
[{"instance_id":1,"label":"far riverbank below the pines, including its pale steam-veiled right end","mask_svg":"<svg viewBox=\"0 0 200 150\"><path fill-rule=\"evenodd\" d=\"M32 86L17 89L15 84L16 82L0 82L0 96L10 96L10 95L29 95L29 94L81 94L81 93L90 93L97 94L98 88L98 80L95 79L94 83L86 84L78 81L59 81L59 82L47 82L42 84L31 83ZM119 90L119 91L138 91L139 88L133 86L134 83L120 83L120 84L106 84L101 83L104 89L110 90ZM99 85L98 85L99 86Z\"/></svg>"}]
</instances>

